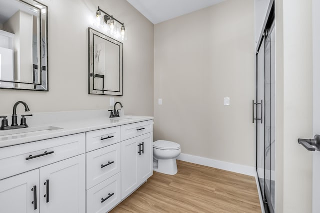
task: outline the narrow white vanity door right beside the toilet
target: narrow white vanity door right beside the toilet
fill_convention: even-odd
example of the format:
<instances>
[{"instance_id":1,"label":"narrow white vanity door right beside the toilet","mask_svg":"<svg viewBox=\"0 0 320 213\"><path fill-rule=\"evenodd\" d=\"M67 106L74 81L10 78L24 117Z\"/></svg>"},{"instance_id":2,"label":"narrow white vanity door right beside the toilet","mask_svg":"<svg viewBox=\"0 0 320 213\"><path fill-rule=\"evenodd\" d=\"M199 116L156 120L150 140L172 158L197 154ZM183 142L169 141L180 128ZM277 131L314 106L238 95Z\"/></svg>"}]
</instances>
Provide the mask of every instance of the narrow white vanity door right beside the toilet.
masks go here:
<instances>
[{"instance_id":1,"label":"narrow white vanity door right beside the toilet","mask_svg":"<svg viewBox=\"0 0 320 213\"><path fill-rule=\"evenodd\" d=\"M138 185L142 184L148 179L153 172L152 169L152 157L153 157L153 146L152 146L152 132L141 135L138 137L137 145L141 144L141 150L143 153L137 155L137 179Z\"/></svg>"}]
</instances>

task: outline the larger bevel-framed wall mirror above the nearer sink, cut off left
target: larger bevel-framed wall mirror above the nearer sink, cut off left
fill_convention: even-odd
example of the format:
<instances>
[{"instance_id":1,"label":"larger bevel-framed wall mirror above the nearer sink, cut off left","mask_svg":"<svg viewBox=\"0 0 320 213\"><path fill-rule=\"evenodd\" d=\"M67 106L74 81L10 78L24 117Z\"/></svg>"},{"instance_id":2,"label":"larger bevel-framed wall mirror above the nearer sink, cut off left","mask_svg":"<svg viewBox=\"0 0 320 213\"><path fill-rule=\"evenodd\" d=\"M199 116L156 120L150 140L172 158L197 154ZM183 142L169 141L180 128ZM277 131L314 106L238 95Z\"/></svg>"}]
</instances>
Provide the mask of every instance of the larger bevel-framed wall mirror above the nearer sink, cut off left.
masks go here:
<instances>
[{"instance_id":1,"label":"larger bevel-framed wall mirror above the nearer sink, cut off left","mask_svg":"<svg viewBox=\"0 0 320 213\"><path fill-rule=\"evenodd\" d=\"M47 6L0 0L0 88L48 91Z\"/></svg>"}]
</instances>

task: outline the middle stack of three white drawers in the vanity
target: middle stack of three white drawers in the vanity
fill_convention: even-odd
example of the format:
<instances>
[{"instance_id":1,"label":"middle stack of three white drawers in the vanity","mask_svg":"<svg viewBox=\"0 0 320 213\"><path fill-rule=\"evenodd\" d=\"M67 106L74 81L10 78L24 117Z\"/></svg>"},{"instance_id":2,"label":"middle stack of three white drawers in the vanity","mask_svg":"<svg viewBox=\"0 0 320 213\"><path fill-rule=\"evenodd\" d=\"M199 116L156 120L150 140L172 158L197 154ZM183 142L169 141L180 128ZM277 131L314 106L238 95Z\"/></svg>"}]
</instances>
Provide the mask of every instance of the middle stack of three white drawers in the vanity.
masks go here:
<instances>
[{"instance_id":1,"label":"middle stack of three white drawers in the vanity","mask_svg":"<svg viewBox=\"0 0 320 213\"><path fill-rule=\"evenodd\" d=\"M105 213L121 201L120 126L89 131L86 137L86 212Z\"/></svg>"}]
</instances>

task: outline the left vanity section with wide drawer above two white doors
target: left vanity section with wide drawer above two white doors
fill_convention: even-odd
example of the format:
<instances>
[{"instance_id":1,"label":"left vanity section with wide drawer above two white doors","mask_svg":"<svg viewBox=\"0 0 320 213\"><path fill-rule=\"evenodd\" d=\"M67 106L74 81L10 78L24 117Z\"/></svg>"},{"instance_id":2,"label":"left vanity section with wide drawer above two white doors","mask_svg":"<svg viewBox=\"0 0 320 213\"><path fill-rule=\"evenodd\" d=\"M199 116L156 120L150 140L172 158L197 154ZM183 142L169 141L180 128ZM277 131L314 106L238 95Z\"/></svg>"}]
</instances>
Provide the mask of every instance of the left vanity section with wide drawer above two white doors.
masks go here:
<instances>
[{"instance_id":1,"label":"left vanity section with wide drawer above two white doors","mask_svg":"<svg viewBox=\"0 0 320 213\"><path fill-rule=\"evenodd\" d=\"M84 133L0 148L0 213L85 213L83 153Z\"/></svg>"}]
</instances>

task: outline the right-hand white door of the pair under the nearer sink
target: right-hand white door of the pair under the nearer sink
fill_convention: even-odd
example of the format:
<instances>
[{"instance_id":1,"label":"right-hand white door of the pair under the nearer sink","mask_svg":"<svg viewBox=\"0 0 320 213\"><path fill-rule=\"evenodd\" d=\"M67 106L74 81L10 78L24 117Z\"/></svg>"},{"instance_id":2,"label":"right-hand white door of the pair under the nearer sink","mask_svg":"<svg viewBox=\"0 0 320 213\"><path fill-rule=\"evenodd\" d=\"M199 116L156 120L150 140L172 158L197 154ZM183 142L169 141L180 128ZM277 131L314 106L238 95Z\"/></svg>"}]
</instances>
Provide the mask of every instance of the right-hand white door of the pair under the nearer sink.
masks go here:
<instances>
[{"instance_id":1,"label":"right-hand white door of the pair under the nearer sink","mask_svg":"<svg viewBox=\"0 0 320 213\"><path fill-rule=\"evenodd\" d=\"M85 155L39 169L41 213L85 212Z\"/></svg>"}]
</instances>

